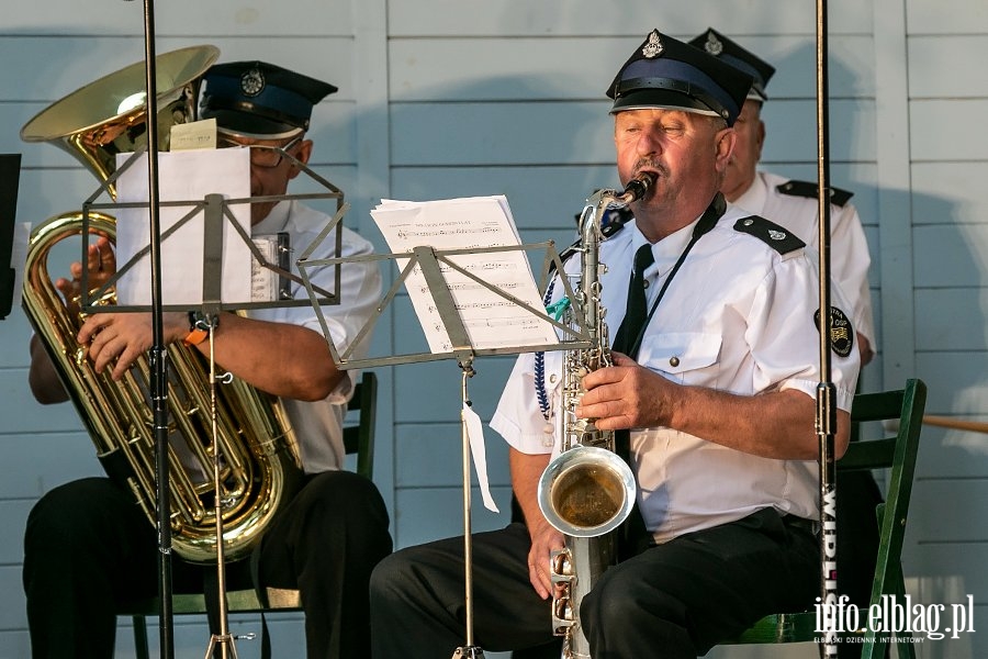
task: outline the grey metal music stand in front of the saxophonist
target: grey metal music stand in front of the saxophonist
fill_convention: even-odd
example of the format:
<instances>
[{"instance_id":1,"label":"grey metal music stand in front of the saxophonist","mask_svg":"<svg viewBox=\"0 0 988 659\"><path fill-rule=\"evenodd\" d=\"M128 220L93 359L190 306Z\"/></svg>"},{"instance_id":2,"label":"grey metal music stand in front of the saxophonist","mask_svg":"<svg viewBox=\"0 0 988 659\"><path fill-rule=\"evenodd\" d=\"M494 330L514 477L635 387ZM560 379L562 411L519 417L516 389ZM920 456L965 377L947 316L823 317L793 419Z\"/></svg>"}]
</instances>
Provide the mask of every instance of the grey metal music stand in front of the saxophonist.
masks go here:
<instances>
[{"instance_id":1,"label":"grey metal music stand in front of the saxophonist","mask_svg":"<svg viewBox=\"0 0 988 659\"><path fill-rule=\"evenodd\" d=\"M324 233L328 233L333 230L333 225L327 225ZM562 265L559 260L559 255L555 252L554 244L549 241L544 243L535 243L535 244L524 244L524 245L512 245L512 246L499 246L499 247L472 247L472 248L463 248L463 249L446 249L439 250L434 249L428 246L416 246L413 248L411 253L404 254L371 254L348 258L333 258L333 259L310 259L312 250L318 245L319 238L313 242L310 249L307 249L302 257L299 259L299 271L301 272L302 279L306 281L306 288L308 282L307 272L310 268L319 267L319 266L328 266L328 265L337 265L344 263L360 263L360 261L380 261L380 260L406 260L405 265L401 269L401 275L397 277L392 287L384 293L382 300L378 304L374 313L367 321L364 326L358 332L357 336L349 342L347 348L340 353L336 345L333 342L332 334L329 333L328 326L326 325L325 317L319 311L318 305L316 304L314 298L314 290L310 289L310 297L313 300L313 305L316 310L316 314L319 319L319 323L323 328L323 334L326 337L326 342L329 345L329 350L333 353L333 358L336 360L337 365L341 369L350 369L350 368L366 368L366 367L374 367L374 366L395 366L398 364L415 364L415 362L424 362L424 361L435 361L439 359L456 359L458 366L462 371L462 384L461 384L461 413L460 413L460 428L461 428L461 439L462 439L462 451L463 451L463 563L464 563L464 591L465 591L465 612L467 612L467 625L465 625L465 644L460 646L453 652L453 659L479 659L483 657L483 649L475 645L473 638L473 556L472 556L472 523L471 523L471 476L470 476L470 456L471 456L471 443L468 431L468 418L467 418L467 409L472 405L470 401L470 396L467 390L467 381L469 378L475 375L475 370L473 368L473 362L476 357L482 356L494 356L494 355L510 355L510 354L523 354L523 353L535 353L541 350L558 350L558 349L581 349L587 348L592 345L591 337L588 334L588 330L580 324L580 320L576 319L575 326L568 326L554 317L552 317L544 310L538 310L532 308L530 304L527 304L519 298L498 289L496 286L490 283L483 278L474 275L470 270L462 268L454 260L456 256L468 255L468 254L492 254L498 252L518 252L518 250L530 250L530 249L544 249L544 259L541 270L541 287L540 290L544 290L551 276L552 269L555 271L562 272ZM446 271L444 272L444 267ZM424 276L426 282L428 283L428 291L431 294L435 309L438 312L442 326L446 333L449 336L448 349L430 351L430 353L408 353L405 355L391 355L391 356L379 356L379 357L369 357L369 358L357 358L355 357L355 351L358 349L361 343L363 343L363 338L367 337L372 331L378 320L381 317L381 314L384 310L393 302L395 295L401 290L402 286L406 282L409 275L416 268L420 268L422 275ZM470 337L470 332L468 332L467 326L464 324L462 314L460 310L457 308L457 304L453 300L453 295L451 292L451 287L448 282L447 273L456 272L461 276L467 277L472 280L474 283L480 284L485 290L495 293L498 298L509 302L510 304L517 306L519 310L524 311L526 314L530 314L531 316L544 321L549 323L552 327L560 331L562 333L563 338L558 343L548 343L548 344L539 344L539 345L517 345L517 346L497 346L497 347L479 347L473 344ZM565 277L560 278L564 294L568 295L571 300L574 299L573 290L570 286L570 282Z\"/></svg>"}]
</instances>

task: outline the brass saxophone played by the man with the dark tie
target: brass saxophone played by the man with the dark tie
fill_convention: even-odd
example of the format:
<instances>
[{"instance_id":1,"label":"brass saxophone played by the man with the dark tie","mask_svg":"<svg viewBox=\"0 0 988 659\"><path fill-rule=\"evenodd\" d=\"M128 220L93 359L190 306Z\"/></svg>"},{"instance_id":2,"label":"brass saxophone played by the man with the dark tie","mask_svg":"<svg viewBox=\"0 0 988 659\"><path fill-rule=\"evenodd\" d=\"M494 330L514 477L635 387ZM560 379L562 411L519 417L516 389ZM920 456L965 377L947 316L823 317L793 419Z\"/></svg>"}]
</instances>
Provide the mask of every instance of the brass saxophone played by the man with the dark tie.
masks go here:
<instances>
[{"instance_id":1,"label":"brass saxophone played by the man with the dark tie","mask_svg":"<svg viewBox=\"0 0 988 659\"><path fill-rule=\"evenodd\" d=\"M602 219L609 206L641 199L654 182L641 174L624 192L599 190L580 216L582 267L571 287L574 300L564 312L568 326L582 328L590 346L568 350L562 373L562 445L539 480L539 507L546 520L565 536L565 548L551 556L552 632L563 636L563 657L590 658L590 644L580 625L580 603L615 560L611 533L628 517L635 504L635 474L614 453L614 432L600 431L592 418L580 418L575 409L586 390L583 377L611 365L606 309L600 299L599 261ZM560 273L563 276L563 273Z\"/></svg>"}]
</instances>

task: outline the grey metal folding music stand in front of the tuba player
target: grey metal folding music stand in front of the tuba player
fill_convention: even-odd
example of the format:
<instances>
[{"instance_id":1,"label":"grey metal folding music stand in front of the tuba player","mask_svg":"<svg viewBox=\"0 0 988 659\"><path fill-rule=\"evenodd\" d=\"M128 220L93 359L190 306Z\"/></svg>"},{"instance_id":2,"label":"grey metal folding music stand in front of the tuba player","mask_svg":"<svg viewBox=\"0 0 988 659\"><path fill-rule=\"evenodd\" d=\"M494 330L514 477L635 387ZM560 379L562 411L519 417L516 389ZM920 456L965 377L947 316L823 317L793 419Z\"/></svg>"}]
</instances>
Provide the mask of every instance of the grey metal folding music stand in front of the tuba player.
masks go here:
<instances>
[{"instance_id":1,"label":"grey metal folding music stand in front of the tuba player","mask_svg":"<svg viewBox=\"0 0 988 659\"><path fill-rule=\"evenodd\" d=\"M280 256L283 258L279 260L279 263L271 263L268 258L261 254L257 245L255 245L250 235L244 230L244 227L238 223L234 212L231 210L231 206L238 204L251 204L251 203L260 203L260 202L271 202L271 201L289 201L289 200L300 200L300 199L329 199L336 201L336 214L330 222L332 226L335 227L335 254L340 254L341 246L341 220L343 215L349 209L349 204L344 202L343 191L334 186L328 180L319 177L314 171L312 171L305 164L299 161L294 156L288 154L283 149L279 149L281 155L285 158L292 160L300 169L306 172L311 178L317 181L323 188L326 189L326 192L316 192L316 193L306 193L306 194L281 194L281 196L268 196L268 197L254 197L254 198L243 198L243 199L224 199L222 194L206 194L203 199L195 200L180 200L180 201L159 201L158 205L160 208L170 208L170 206L180 206L190 209L184 215L182 215L176 223L169 227L167 231L160 232L158 235L158 239L164 242L169 237L177 234L177 231L192 222L193 220L201 217L202 219L202 231L203 231L203 270L202 270L202 294L201 294L201 303L197 306L200 308L203 314L202 328L212 331L218 324L218 314L223 311L234 311L234 310L246 310L246 309L270 309L270 308L281 308L281 306L301 306L313 304L312 295L316 295L317 304L322 306L323 304L337 304L339 303L339 266L336 268L336 275L334 277L334 287L332 291L326 290L324 288L314 287L310 280L303 281L297 275L294 275L290 271L290 264L287 260L288 253L284 252ZM82 212L82 258L86 258L86 247L88 244L88 233L90 231L90 211L98 210L109 210L109 209L148 209L149 203L144 202L126 202L126 203L97 203L94 200L99 198L103 192L109 192L109 186L114 183L120 176L133 164L139 161L141 157L144 155L144 150L139 150L131 155L127 160L121 165L120 168L104 182L100 183L100 188L93 192L93 194L87 199L83 203L83 212ZM165 157L170 156L171 154L164 154ZM162 155L159 155L161 157ZM246 154L245 154L246 157ZM235 228L234 232L231 232L228 235L236 236L234 239L243 241L246 244L248 249L250 250L252 258L260 265L261 268L271 270L276 272L282 280L282 286L278 287L279 292L281 293L278 299L271 301L239 301L239 302L225 302L223 301L222 295L222 280L223 280L223 250L224 250L224 225L229 224ZM119 228L119 227L117 227ZM326 235L329 232L325 232ZM154 236L153 236L154 237ZM108 292L111 291L112 287L114 287L120 278L125 275L127 271L137 267L138 261L144 258L151 250L151 245L148 244L143 249L138 249L125 264L117 268L116 272L111 276L101 287L94 290L90 290L88 283L88 271L86 269L82 270L82 299L80 301L80 308L87 313L99 313L106 312L108 308L104 305L99 305L97 302L104 298ZM308 298L304 298L301 300L294 299L284 299L283 297L283 288L284 284L289 281L304 284L306 291L308 293ZM158 309L161 311L188 311L190 305L188 303L181 304L166 304L161 301L160 297L157 300ZM154 308L148 308L141 304L119 304L112 308L113 312L147 312L154 311ZM215 565L216 565L216 574L217 574L217 591L218 591L218 618L220 618L220 633L211 634L210 645L206 649L206 659L212 657L214 649L218 648L221 651L221 656L226 659L226 657L232 656L236 658L236 647L234 645L234 636L231 635L227 624L227 605L226 605L226 578L225 578L225 541L224 541L224 532L223 532L223 517L224 517L224 501L220 495L221 490L221 480L220 480L220 433L217 429L217 407L216 407L216 390L217 390L217 381L218 382L229 382L229 380L224 380L223 377L217 377L216 375L216 365L214 358L214 342L210 342L210 357L209 357L209 380L210 380L210 423L211 423L211 436L212 442L207 447L207 454L211 457L211 468L212 468L212 484L213 484L213 494L214 494L214 520L215 520ZM227 373L228 376L228 373ZM128 377L133 377L132 375ZM162 390L165 393L164 399L167 400L167 390ZM166 418L167 422L167 418ZM156 428L157 429L157 428ZM158 433L156 433L155 437L156 443L161 442L161 437ZM166 448L160 449L159 453L164 455L168 455L167 449L167 435L164 437L164 442L166 444ZM167 470L167 467L166 467ZM164 477L164 480L167 482L168 473ZM170 529L170 520L169 512L171 510L171 504L165 505L165 501L170 501L168 489L165 488L164 496L161 495L161 490L157 492L150 492L146 487L142 491L142 484L132 482L131 489L134 491L135 495L138 498L138 501L143 503L150 502L155 504L155 510L158 513L158 527L159 529L168 527ZM144 500L142 500L142 496ZM165 533L159 532L159 543L161 538L166 537ZM167 552L170 555L171 546L170 546L170 534L167 534L169 544L167 545ZM162 585L165 581L162 580ZM168 580L169 589L162 589L161 601L162 601L162 610L166 608L164 602L167 599L170 599L170 579ZM254 638L254 635L242 636L240 638ZM165 652L162 651L162 655Z\"/></svg>"}]
</instances>

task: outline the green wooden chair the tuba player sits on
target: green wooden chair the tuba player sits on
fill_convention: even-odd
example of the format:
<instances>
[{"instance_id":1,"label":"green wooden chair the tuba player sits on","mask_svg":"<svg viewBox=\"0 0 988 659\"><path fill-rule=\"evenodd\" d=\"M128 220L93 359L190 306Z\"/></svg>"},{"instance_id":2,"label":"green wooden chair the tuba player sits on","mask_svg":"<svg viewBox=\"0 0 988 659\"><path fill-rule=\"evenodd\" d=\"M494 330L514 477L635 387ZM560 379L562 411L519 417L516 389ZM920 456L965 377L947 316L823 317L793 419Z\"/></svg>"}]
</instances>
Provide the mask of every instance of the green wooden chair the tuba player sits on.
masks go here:
<instances>
[{"instance_id":1,"label":"green wooden chair the tuba player sits on","mask_svg":"<svg viewBox=\"0 0 988 659\"><path fill-rule=\"evenodd\" d=\"M356 423L347 423L344 427L344 446L347 455L357 458L357 473L371 479L374 466L374 429L378 417L378 377L371 371L363 371L353 390L353 396L347 411L356 415ZM265 606L250 590L235 590L226 593L227 612L261 614L270 612L301 612L302 604L296 590L268 589L268 603ZM203 593L176 593L171 597L172 613L176 615L206 615L206 600ZM130 616L134 624L134 647L137 659L149 659L147 639L147 618L157 617L160 606L157 597L138 602L126 611L119 611L119 616ZM266 624L265 624L266 626ZM267 645L268 635L262 635L262 644ZM262 650L268 655L267 648Z\"/></svg>"}]
</instances>

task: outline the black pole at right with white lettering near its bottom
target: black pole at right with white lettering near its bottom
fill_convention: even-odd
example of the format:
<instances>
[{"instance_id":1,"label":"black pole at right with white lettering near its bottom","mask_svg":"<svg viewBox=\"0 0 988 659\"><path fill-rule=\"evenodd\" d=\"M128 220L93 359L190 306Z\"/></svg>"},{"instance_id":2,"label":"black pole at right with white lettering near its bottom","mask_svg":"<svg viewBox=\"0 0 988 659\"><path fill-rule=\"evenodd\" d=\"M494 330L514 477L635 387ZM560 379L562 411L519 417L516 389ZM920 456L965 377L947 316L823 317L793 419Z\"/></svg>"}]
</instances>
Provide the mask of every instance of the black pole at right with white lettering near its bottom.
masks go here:
<instances>
[{"instance_id":1,"label":"black pole at right with white lettering near its bottom","mask_svg":"<svg viewBox=\"0 0 988 659\"><path fill-rule=\"evenodd\" d=\"M817 177L820 245L820 383L817 388L817 435L820 439L820 604L823 643L820 656L837 657L838 602L837 472L833 434L835 388L831 381L830 305L830 147L828 136L827 0L817 0Z\"/></svg>"}]
</instances>

